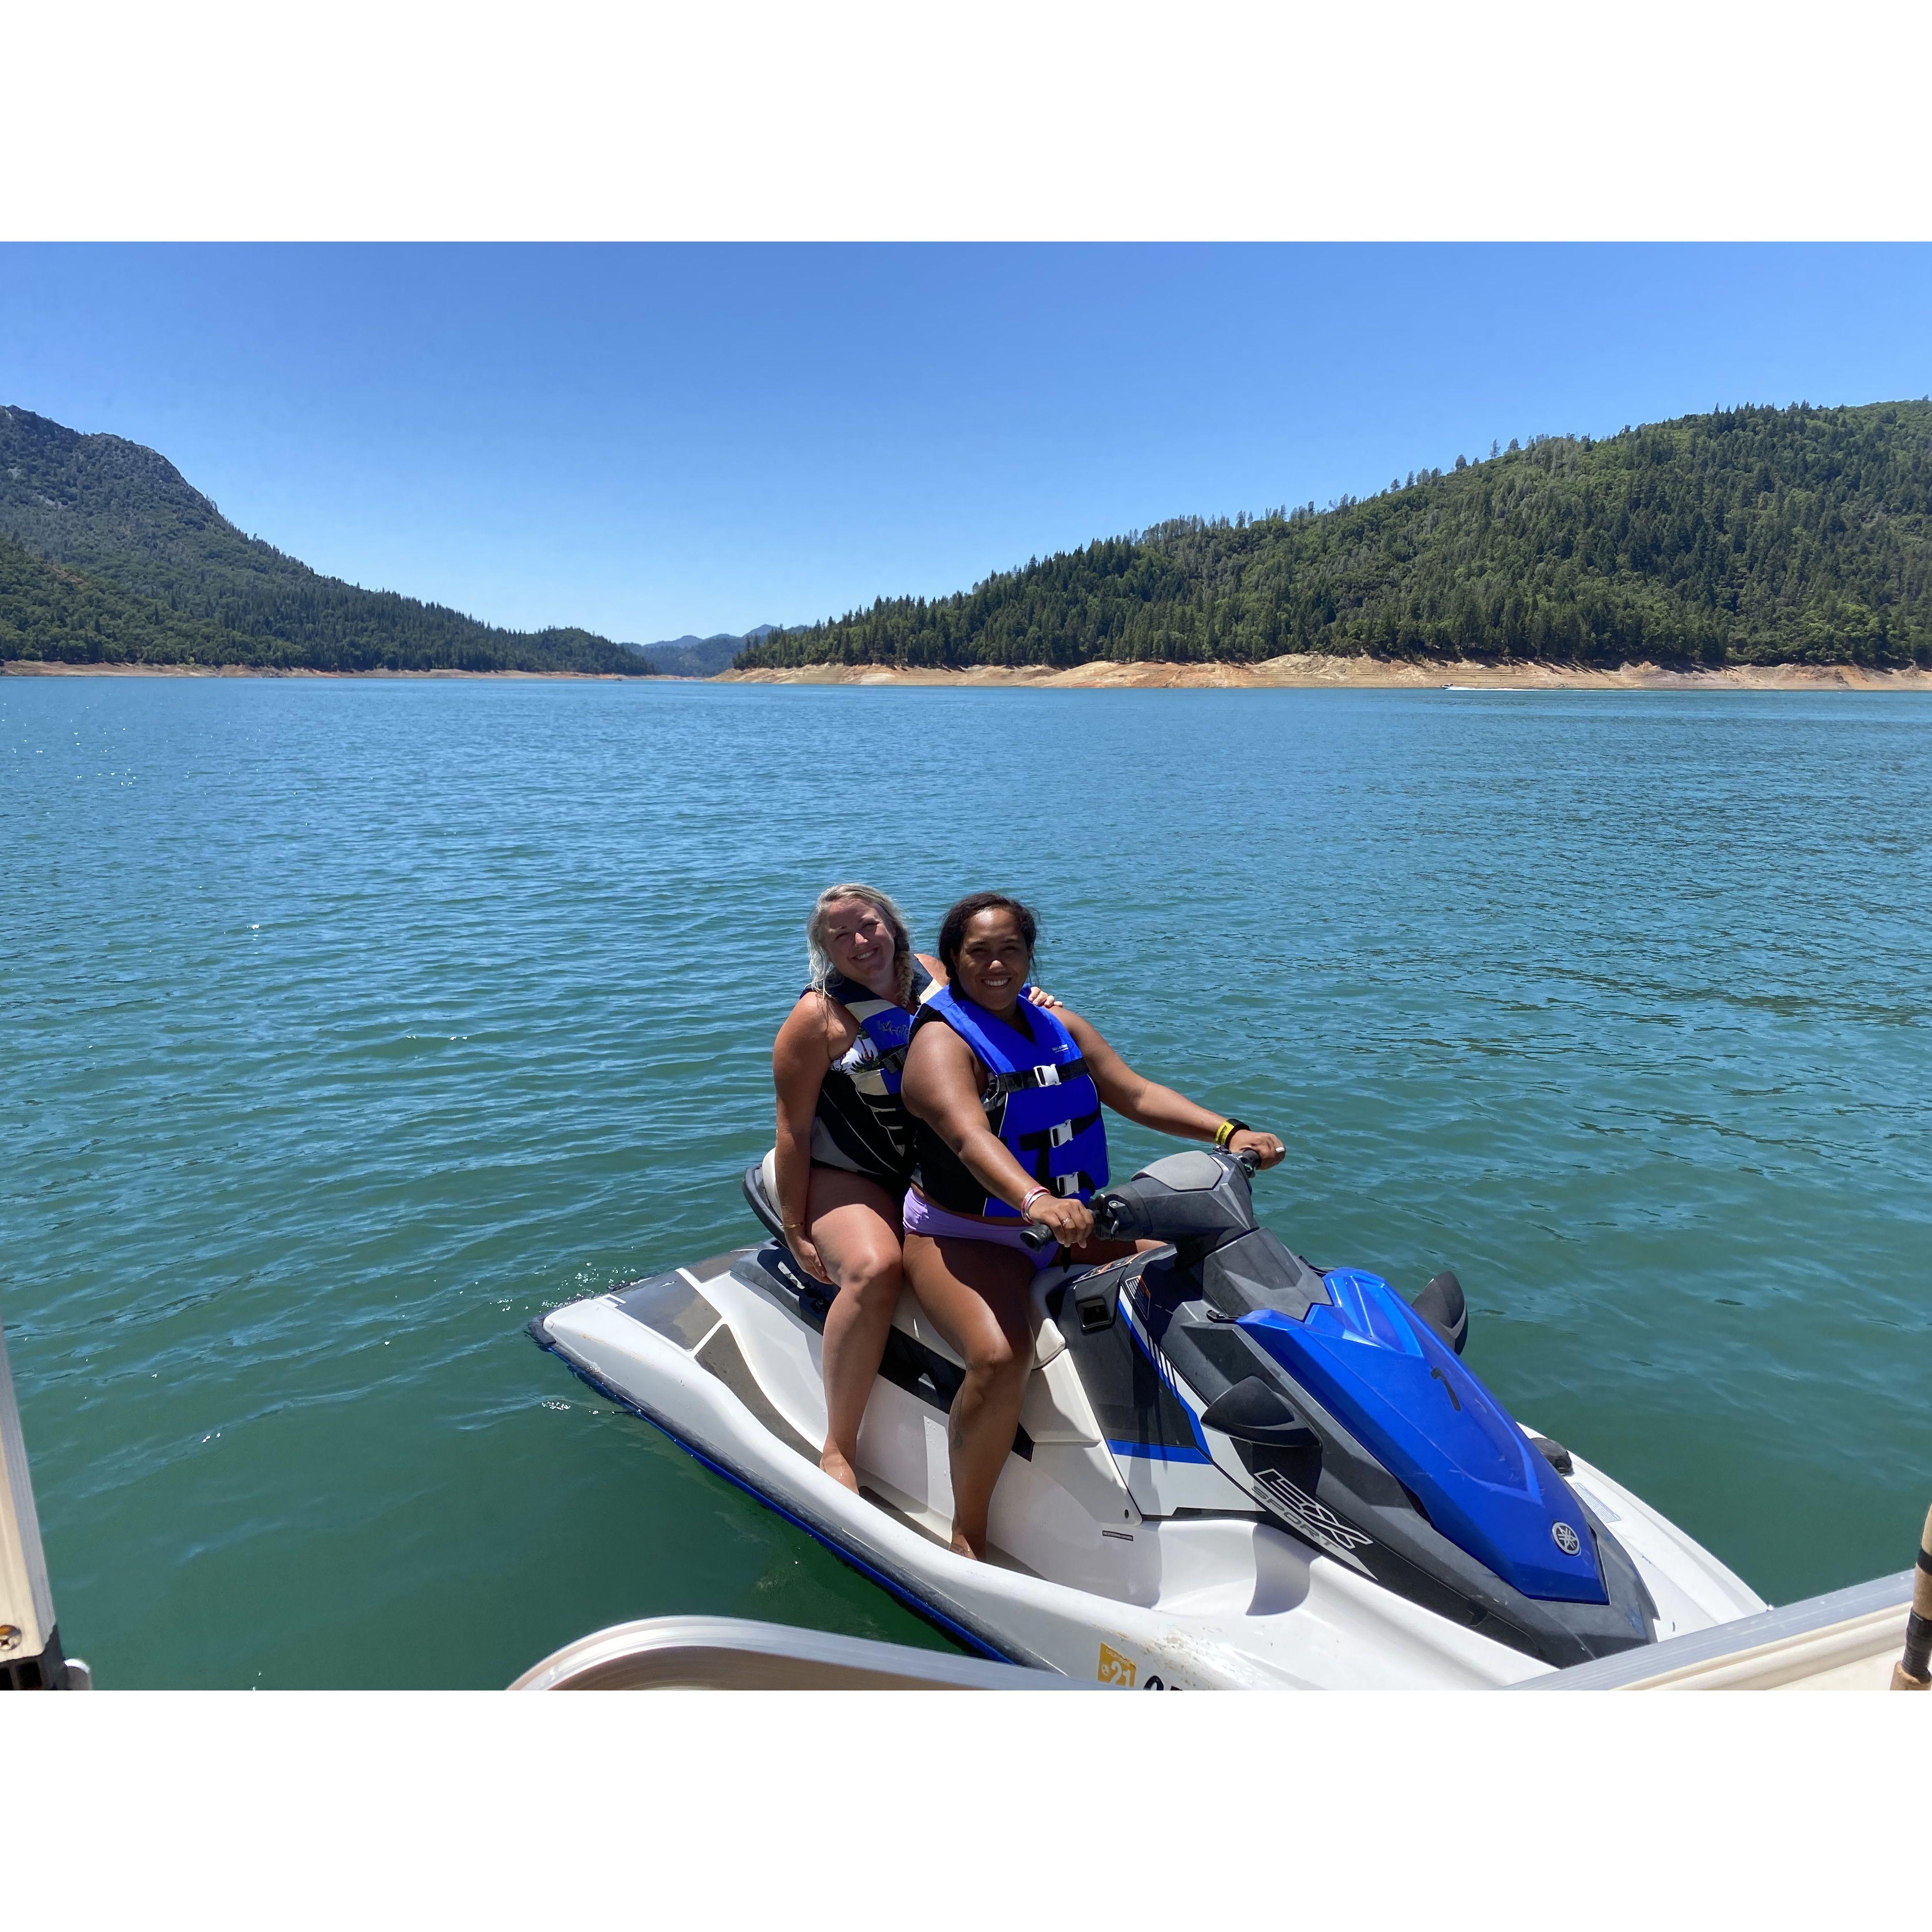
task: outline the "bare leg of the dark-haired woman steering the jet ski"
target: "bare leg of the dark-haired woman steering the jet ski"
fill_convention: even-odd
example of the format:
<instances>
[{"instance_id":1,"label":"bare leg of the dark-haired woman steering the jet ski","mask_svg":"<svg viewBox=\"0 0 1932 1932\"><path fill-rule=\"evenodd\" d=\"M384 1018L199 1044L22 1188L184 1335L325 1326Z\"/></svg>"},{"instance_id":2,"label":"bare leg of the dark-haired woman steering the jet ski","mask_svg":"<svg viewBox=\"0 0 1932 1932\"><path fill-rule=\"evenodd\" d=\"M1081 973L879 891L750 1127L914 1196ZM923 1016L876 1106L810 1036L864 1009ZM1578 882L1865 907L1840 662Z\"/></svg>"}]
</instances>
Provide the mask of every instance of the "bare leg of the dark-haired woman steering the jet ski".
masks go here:
<instances>
[{"instance_id":1,"label":"bare leg of the dark-haired woman steering the jet ski","mask_svg":"<svg viewBox=\"0 0 1932 1932\"><path fill-rule=\"evenodd\" d=\"M985 1240L906 1236L906 1281L966 1364L952 1397L952 1548L985 1555L993 1486L1012 1453L1034 1370L1034 1260Z\"/></svg>"}]
</instances>

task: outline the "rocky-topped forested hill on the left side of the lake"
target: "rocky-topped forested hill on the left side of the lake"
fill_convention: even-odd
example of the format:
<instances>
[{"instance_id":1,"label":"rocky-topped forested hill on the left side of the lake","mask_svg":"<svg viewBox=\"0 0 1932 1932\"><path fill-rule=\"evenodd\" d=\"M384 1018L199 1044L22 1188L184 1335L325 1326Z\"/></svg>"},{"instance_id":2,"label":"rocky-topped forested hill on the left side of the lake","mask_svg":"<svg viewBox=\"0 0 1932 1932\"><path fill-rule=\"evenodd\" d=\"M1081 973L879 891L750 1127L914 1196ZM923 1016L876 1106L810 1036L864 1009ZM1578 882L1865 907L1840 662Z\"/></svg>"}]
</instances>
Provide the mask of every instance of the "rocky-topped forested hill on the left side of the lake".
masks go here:
<instances>
[{"instance_id":1,"label":"rocky-topped forested hill on the left side of the lake","mask_svg":"<svg viewBox=\"0 0 1932 1932\"><path fill-rule=\"evenodd\" d=\"M29 410L0 408L0 539L29 562L62 566L41 576L12 551L0 556L8 657L651 670L636 651L585 630L497 630L442 605L325 578L245 537L155 450L83 437Z\"/></svg>"}]
</instances>

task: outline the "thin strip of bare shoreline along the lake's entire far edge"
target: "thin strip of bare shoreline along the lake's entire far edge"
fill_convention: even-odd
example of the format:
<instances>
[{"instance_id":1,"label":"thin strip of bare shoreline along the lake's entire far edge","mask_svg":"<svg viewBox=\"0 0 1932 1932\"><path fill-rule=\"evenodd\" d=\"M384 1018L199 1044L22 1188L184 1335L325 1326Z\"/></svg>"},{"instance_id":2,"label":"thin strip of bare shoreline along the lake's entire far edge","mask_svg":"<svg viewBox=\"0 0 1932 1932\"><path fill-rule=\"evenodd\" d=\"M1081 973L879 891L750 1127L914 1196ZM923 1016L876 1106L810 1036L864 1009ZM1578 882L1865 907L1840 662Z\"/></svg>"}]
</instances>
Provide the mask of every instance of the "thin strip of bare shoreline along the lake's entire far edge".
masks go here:
<instances>
[{"instance_id":1,"label":"thin strip of bare shoreline along the lake's entire far edge","mask_svg":"<svg viewBox=\"0 0 1932 1932\"><path fill-rule=\"evenodd\" d=\"M1051 665L976 665L972 670L895 670L887 665L804 665L786 670L723 670L713 678L668 672L622 676L611 670L311 670L282 665L64 665L8 659L12 678L502 678L587 684L889 684L935 690L1063 692L1258 692L1358 690L1432 692L1932 692L1932 670L1870 670L1861 665L1729 665L1723 670L1667 670L1621 665L1387 663L1368 657L1271 657L1262 665L1117 665L1095 661L1072 670Z\"/></svg>"}]
</instances>

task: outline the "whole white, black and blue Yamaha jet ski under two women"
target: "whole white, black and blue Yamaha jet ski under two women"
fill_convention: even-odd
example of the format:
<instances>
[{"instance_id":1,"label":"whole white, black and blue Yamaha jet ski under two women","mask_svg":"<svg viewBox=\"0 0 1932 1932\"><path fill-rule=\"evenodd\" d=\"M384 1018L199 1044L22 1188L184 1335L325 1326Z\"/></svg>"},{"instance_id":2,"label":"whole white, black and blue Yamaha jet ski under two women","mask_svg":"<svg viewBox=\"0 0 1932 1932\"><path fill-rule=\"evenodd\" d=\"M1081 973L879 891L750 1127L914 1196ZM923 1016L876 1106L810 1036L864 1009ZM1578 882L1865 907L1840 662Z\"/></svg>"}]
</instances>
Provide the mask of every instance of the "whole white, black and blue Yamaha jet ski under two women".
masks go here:
<instances>
[{"instance_id":1,"label":"whole white, black and blue Yamaha jet ski under two women","mask_svg":"<svg viewBox=\"0 0 1932 1932\"><path fill-rule=\"evenodd\" d=\"M1090 1683L1503 1687L1766 1607L1503 1408L1463 1358L1453 1273L1405 1300L1316 1267L1256 1221L1250 1179L1206 1150L1153 1161L1092 1202L1138 1252L1036 1275L983 1563L949 1548L964 1366L910 1289L862 1492L819 1470L829 1291L781 1238L769 1155L744 1194L771 1240L531 1333L966 1650Z\"/></svg>"}]
</instances>

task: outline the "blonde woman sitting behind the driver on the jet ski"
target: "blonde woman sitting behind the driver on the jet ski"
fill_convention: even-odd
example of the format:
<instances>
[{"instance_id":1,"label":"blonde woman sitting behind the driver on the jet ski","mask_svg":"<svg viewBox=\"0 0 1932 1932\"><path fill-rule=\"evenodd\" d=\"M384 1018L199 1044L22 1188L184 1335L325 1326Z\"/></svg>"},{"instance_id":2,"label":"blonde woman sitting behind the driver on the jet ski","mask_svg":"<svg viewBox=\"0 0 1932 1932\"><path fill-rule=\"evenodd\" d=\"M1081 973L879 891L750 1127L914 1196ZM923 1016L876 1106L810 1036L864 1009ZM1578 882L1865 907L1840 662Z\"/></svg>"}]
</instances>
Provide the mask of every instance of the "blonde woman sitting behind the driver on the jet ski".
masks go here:
<instances>
[{"instance_id":1,"label":"blonde woman sitting behind the driver on the jet ski","mask_svg":"<svg viewBox=\"0 0 1932 1932\"><path fill-rule=\"evenodd\" d=\"M806 951L811 983L771 1049L777 1208L798 1265L835 1289L819 1468L856 1490L858 1430L902 1285L898 1211L912 1122L898 1070L912 1016L945 985L945 968L912 951L906 918L885 893L856 881L819 893ZM1028 991L1036 1005L1057 1005Z\"/></svg>"}]
</instances>

